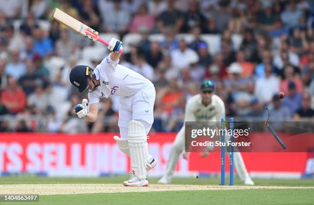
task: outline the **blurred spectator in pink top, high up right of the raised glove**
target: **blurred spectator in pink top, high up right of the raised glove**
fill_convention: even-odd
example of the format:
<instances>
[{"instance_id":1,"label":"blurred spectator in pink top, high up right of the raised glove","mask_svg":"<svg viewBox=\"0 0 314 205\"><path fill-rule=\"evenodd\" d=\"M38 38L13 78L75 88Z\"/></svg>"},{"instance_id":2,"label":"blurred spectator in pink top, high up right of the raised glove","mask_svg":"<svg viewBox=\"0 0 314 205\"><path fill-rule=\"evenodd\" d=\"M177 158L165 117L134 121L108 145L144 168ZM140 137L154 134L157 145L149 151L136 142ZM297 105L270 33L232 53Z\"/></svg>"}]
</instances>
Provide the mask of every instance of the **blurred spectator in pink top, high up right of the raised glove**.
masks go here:
<instances>
[{"instance_id":1,"label":"blurred spectator in pink top, high up right of the raised glove","mask_svg":"<svg viewBox=\"0 0 314 205\"><path fill-rule=\"evenodd\" d=\"M139 33L141 29L145 29L152 32L155 28L155 19L147 11L146 4L142 4L139 8L139 12L132 18L130 24L130 32Z\"/></svg>"}]
</instances>

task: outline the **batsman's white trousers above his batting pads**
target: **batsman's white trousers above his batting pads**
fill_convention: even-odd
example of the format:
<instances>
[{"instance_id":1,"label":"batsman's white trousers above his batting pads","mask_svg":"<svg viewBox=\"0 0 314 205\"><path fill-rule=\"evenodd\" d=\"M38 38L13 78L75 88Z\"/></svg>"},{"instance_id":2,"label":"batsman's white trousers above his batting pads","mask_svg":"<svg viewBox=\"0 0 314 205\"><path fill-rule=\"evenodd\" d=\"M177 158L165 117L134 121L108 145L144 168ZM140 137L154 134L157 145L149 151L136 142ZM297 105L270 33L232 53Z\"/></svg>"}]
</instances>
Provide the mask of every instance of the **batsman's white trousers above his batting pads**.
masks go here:
<instances>
[{"instance_id":1,"label":"batsman's white trousers above his batting pads","mask_svg":"<svg viewBox=\"0 0 314 205\"><path fill-rule=\"evenodd\" d=\"M156 92L152 84L132 96L120 97L118 125L121 138L128 138L128 124L132 119L140 121L148 134L154 121L155 97Z\"/></svg>"}]
</instances>

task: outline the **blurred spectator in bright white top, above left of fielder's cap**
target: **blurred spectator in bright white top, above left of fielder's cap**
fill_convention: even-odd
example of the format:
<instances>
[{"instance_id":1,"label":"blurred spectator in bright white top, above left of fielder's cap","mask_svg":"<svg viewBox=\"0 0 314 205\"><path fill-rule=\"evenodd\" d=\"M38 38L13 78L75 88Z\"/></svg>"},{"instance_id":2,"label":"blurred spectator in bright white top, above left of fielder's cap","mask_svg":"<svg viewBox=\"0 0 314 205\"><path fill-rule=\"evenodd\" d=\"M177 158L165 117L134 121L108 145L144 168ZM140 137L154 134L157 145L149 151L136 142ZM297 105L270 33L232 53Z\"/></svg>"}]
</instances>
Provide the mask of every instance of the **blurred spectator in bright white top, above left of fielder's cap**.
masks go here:
<instances>
[{"instance_id":1,"label":"blurred spectator in bright white top, above left of fielder's cap","mask_svg":"<svg viewBox=\"0 0 314 205\"><path fill-rule=\"evenodd\" d=\"M179 41L179 49L170 52L174 67L182 69L199 61L197 52L187 47L184 39Z\"/></svg>"}]
</instances>

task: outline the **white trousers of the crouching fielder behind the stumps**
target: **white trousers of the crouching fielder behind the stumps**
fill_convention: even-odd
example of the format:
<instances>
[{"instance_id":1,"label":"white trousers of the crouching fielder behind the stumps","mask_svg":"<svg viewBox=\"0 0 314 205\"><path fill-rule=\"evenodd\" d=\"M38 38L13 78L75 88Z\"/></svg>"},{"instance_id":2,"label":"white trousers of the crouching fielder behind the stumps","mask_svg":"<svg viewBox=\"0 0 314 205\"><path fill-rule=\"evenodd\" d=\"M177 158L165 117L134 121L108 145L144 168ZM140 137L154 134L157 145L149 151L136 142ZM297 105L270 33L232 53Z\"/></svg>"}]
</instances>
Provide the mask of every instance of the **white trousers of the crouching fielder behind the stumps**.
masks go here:
<instances>
[{"instance_id":1,"label":"white trousers of the crouching fielder behind the stumps","mask_svg":"<svg viewBox=\"0 0 314 205\"><path fill-rule=\"evenodd\" d=\"M185 126L183 126L181 130L178 132L172 144L170 155L167 161L166 172L164 175L168 180L171 180L173 176L173 171L176 166L176 162L178 162L178 159L181 153L185 150L185 136L184 135L185 135ZM227 137L226 137L226 140L228 140ZM227 153L228 153L228 156L230 156L230 153L229 152ZM240 152L234 152L233 157L234 157L235 170L237 170L237 173L239 174L240 179L244 181L245 178L248 177L249 175L247 173L242 155Z\"/></svg>"}]
</instances>

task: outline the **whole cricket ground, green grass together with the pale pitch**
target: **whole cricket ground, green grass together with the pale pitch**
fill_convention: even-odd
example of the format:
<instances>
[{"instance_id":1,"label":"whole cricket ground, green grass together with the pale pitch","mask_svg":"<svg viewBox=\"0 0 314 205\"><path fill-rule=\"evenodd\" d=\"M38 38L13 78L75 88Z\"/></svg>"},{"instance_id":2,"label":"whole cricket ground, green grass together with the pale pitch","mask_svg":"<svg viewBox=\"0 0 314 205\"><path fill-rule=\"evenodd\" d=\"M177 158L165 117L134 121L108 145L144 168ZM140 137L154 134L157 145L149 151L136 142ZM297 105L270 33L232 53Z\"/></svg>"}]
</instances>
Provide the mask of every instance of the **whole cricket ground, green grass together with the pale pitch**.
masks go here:
<instances>
[{"instance_id":1,"label":"whole cricket ground, green grass together with the pale pitch","mask_svg":"<svg viewBox=\"0 0 314 205\"><path fill-rule=\"evenodd\" d=\"M220 178L174 178L172 185L124 187L128 176L0 178L0 194L39 194L27 204L314 204L314 179L254 179L255 186L219 186ZM226 182L228 179L226 179ZM21 204L23 202L0 202Z\"/></svg>"}]
</instances>

